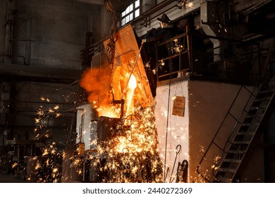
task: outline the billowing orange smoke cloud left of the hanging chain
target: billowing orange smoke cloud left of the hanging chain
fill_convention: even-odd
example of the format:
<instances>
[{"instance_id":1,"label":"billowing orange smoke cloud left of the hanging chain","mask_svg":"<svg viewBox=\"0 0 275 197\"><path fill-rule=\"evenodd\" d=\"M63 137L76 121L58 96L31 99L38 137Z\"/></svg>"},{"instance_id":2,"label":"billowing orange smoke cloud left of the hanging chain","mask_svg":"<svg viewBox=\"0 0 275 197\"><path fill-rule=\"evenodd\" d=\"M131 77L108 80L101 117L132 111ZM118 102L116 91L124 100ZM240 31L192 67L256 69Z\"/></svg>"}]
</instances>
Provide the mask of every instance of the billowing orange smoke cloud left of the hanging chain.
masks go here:
<instances>
[{"instance_id":1,"label":"billowing orange smoke cloud left of the hanging chain","mask_svg":"<svg viewBox=\"0 0 275 197\"><path fill-rule=\"evenodd\" d=\"M83 72L80 87L88 94L88 101L104 103L109 99L111 87L111 68L88 68Z\"/></svg>"}]
</instances>

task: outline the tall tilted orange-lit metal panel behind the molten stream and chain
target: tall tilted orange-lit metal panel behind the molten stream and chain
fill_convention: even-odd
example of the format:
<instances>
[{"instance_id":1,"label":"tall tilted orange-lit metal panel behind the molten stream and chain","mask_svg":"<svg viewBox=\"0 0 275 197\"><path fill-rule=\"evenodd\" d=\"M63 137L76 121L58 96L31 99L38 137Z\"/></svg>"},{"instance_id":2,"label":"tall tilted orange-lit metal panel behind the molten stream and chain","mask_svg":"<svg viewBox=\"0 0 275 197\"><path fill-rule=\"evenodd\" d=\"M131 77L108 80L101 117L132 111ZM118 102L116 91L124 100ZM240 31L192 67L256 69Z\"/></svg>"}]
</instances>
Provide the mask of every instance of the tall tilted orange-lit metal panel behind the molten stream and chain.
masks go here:
<instances>
[{"instance_id":1,"label":"tall tilted orange-lit metal panel behind the molten stream and chain","mask_svg":"<svg viewBox=\"0 0 275 197\"><path fill-rule=\"evenodd\" d=\"M133 75L138 82L138 87L135 89L134 100L140 102L143 107L152 106L154 98L149 87L142 58L139 54L140 49L135 39L132 26L127 25L119 30L116 33L115 38L117 38L113 65L115 99L119 100L123 97L123 90L127 88L126 83L128 77L130 77L130 72L133 70ZM104 42L105 49L109 42L110 39L107 39ZM135 63L137 56L138 61ZM133 66L135 66L134 69Z\"/></svg>"}]
</instances>

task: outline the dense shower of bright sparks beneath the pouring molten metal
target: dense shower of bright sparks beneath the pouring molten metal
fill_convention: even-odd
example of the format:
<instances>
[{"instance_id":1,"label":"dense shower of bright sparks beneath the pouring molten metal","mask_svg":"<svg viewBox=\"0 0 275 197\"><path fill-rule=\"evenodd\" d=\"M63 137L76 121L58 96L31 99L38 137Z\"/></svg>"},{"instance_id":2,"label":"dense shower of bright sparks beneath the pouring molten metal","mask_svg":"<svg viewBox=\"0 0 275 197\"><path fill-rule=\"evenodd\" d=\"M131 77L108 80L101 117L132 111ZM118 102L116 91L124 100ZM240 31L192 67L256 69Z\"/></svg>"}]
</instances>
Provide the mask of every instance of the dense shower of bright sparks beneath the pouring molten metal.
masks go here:
<instances>
[{"instance_id":1,"label":"dense shower of bright sparks beneath the pouring molten metal","mask_svg":"<svg viewBox=\"0 0 275 197\"><path fill-rule=\"evenodd\" d=\"M111 172L111 182L161 182L162 165L156 151L154 110L136 107L132 116L135 118L125 121L129 125L126 135L99 144L97 157L106 155L107 163L103 169ZM93 165L99 165L99 160L94 160ZM152 180L147 179L145 172L151 174Z\"/></svg>"}]
</instances>

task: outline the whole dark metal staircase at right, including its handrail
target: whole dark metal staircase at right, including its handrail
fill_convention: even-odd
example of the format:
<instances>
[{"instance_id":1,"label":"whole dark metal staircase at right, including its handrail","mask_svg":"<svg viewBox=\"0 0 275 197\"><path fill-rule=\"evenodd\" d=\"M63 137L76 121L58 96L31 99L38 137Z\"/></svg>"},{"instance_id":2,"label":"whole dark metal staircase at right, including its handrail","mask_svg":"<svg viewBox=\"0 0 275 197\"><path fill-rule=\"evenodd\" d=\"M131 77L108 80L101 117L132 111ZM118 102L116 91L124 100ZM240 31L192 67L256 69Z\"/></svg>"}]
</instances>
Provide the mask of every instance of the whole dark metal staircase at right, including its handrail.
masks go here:
<instances>
[{"instance_id":1,"label":"whole dark metal staircase at right, including its handrail","mask_svg":"<svg viewBox=\"0 0 275 197\"><path fill-rule=\"evenodd\" d=\"M235 182L238 170L246 165L249 148L259 139L257 134L260 133L262 123L271 115L275 106L275 82L269 82L273 54L274 41L262 68L264 73L260 77L261 82L254 88L240 86L228 113L204 151L197 172L207 182ZM247 98L247 101L243 101L243 110L236 113L236 109L240 110L243 98Z\"/></svg>"}]
</instances>

